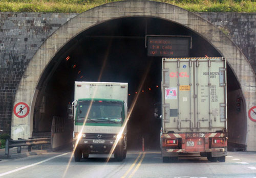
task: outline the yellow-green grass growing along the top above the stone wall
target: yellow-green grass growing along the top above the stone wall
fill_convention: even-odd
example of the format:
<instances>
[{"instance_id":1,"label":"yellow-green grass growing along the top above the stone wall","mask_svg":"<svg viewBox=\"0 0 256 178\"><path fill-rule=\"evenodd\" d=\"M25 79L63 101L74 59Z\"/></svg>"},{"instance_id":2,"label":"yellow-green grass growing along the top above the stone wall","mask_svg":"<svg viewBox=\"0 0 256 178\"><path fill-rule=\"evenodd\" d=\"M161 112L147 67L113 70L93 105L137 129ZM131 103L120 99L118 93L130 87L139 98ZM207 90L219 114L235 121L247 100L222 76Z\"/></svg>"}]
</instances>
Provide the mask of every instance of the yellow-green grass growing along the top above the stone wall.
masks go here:
<instances>
[{"instance_id":1,"label":"yellow-green grass growing along the top above the stone wall","mask_svg":"<svg viewBox=\"0 0 256 178\"><path fill-rule=\"evenodd\" d=\"M81 13L119 0L0 0L1 12ZM155 0L191 12L256 12L256 0Z\"/></svg>"}]
</instances>

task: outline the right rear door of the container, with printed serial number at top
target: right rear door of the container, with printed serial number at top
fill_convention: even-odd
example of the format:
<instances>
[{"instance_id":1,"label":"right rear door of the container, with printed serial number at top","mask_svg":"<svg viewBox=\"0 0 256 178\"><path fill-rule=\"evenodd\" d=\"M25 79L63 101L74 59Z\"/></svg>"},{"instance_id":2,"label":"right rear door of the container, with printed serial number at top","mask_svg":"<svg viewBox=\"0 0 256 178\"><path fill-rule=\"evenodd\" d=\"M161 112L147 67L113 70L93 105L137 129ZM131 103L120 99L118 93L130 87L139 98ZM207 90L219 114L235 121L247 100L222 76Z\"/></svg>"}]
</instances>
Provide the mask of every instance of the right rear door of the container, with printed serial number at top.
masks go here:
<instances>
[{"instance_id":1,"label":"right rear door of the container, with printed serial number at top","mask_svg":"<svg viewBox=\"0 0 256 178\"><path fill-rule=\"evenodd\" d=\"M223 58L198 59L195 68L197 90L196 128L226 128L226 61Z\"/></svg>"}]
</instances>

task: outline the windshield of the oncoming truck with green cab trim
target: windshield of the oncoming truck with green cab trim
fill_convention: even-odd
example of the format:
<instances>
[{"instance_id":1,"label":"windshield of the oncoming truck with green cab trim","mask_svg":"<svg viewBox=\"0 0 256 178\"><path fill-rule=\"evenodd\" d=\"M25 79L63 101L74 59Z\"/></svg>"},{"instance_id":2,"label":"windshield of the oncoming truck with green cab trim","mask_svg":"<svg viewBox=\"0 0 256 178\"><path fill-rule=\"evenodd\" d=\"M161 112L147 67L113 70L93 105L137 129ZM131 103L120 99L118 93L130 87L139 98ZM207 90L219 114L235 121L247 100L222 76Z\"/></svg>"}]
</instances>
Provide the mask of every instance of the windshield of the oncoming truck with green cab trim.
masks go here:
<instances>
[{"instance_id":1,"label":"windshield of the oncoming truck with green cab trim","mask_svg":"<svg viewBox=\"0 0 256 178\"><path fill-rule=\"evenodd\" d=\"M120 101L79 101L77 105L78 122L83 122L87 117L87 123L122 123L122 102ZM89 113L88 113L89 112Z\"/></svg>"}]
</instances>

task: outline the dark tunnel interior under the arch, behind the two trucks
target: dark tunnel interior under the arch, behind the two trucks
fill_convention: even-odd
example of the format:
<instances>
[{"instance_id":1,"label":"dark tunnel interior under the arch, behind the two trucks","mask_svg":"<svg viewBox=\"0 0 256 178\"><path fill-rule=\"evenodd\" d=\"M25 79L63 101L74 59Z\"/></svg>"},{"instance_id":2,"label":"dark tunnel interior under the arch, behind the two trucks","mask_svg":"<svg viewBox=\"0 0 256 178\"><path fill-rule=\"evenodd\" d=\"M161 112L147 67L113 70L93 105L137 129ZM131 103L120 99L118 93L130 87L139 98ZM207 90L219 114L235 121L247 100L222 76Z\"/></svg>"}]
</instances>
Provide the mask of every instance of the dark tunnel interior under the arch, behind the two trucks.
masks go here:
<instances>
[{"instance_id":1,"label":"dark tunnel interior under the arch, behind the two trucks","mask_svg":"<svg viewBox=\"0 0 256 178\"><path fill-rule=\"evenodd\" d=\"M74 100L74 81L127 82L129 107L150 67L127 125L127 146L141 149L143 137L145 149L158 149L161 120L154 118L154 104L161 101L161 58L146 55L145 35L191 36L193 47L189 57L222 56L195 32L160 18L126 17L100 23L63 46L41 75L33 135L50 132L54 116L68 119L67 105ZM240 84L229 66L227 82L229 145L244 149L245 106ZM72 129L71 122L70 131Z\"/></svg>"}]
</instances>

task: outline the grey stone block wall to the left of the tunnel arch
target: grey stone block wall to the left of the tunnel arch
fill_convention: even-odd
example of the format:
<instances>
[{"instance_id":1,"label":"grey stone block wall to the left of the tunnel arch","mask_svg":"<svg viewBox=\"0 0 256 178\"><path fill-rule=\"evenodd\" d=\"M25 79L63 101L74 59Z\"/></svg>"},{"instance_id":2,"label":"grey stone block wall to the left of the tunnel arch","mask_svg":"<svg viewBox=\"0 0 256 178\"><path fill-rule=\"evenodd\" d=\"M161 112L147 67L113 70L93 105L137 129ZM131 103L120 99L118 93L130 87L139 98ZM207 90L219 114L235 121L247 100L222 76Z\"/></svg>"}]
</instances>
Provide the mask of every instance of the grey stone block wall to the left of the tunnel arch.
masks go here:
<instances>
[{"instance_id":1,"label":"grey stone block wall to the left of the tunnel arch","mask_svg":"<svg viewBox=\"0 0 256 178\"><path fill-rule=\"evenodd\" d=\"M76 15L0 12L0 130L11 132L16 88L29 61L56 29Z\"/></svg>"}]
</instances>

